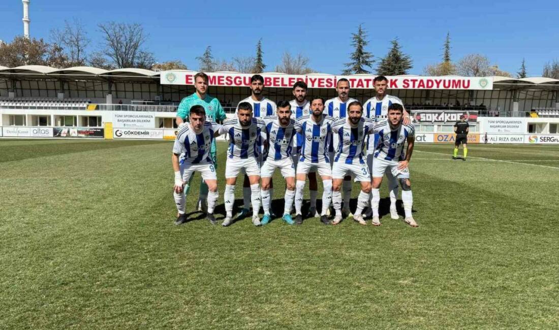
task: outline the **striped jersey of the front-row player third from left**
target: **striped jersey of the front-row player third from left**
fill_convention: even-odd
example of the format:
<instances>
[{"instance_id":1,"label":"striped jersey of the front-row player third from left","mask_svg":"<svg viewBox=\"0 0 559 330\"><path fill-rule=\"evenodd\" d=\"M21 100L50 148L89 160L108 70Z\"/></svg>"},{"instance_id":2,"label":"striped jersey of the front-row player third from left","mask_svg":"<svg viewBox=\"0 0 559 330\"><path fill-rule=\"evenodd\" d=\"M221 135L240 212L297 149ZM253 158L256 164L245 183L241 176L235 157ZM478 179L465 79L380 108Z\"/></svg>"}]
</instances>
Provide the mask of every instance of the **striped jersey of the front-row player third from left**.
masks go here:
<instances>
[{"instance_id":1,"label":"striped jersey of the front-row player third from left","mask_svg":"<svg viewBox=\"0 0 559 330\"><path fill-rule=\"evenodd\" d=\"M287 127L280 126L278 116L263 118L266 124L266 141L268 142L267 159L281 160L291 157L293 149L293 137L301 132L301 124L290 118Z\"/></svg>"}]
</instances>

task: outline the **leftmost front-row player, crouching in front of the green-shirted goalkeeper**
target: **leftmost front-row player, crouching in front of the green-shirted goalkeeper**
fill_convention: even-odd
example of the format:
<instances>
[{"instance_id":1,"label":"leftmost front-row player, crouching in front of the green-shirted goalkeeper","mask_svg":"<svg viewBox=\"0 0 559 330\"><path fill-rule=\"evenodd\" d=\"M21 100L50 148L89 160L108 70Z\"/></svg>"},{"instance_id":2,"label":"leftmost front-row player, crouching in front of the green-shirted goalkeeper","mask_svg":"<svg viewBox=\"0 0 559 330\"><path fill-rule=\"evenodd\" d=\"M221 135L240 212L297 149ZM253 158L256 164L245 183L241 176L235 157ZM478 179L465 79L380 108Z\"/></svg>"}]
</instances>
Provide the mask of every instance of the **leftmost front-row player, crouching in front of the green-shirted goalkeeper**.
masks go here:
<instances>
[{"instance_id":1,"label":"leftmost front-row player, crouching in front of the green-shirted goalkeeper","mask_svg":"<svg viewBox=\"0 0 559 330\"><path fill-rule=\"evenodd\" d=\"M175 224L186 222L186 199L184 197L184 183L188 182L195 172L202 174L209 193L207 195L206 217L212 224L217 224L214 217L214 207L219 193L217 192L217 178L215 161L211 157L211 148L215 137L219 135L221 125L206 121L206 111L203 106L196 104L189 109L188 123L182 125L177 133L173 146L173 170L175 173L174 199L177 205L178 217ZM179 157L181 159L179 160Z\"/></svg>"}]
</instances>

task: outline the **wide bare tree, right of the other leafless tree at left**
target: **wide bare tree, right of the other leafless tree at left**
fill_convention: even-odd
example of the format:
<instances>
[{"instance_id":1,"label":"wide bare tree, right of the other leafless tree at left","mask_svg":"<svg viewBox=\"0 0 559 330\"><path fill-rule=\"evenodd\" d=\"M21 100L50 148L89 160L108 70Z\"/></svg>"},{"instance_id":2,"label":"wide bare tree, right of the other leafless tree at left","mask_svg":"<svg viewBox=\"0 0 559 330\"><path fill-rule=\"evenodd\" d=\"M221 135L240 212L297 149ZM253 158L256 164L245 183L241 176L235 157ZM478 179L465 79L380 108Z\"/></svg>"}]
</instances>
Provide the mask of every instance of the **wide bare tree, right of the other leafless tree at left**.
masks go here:
<instances>
[{"instance_id":1,"label":"wide bare tree, right of the other leafless tree at left","mask_svg":"<svg viewBox=\"0 0 559 330\"><path fill-rule=\"evenodd\" d=\"M102 53L117 68L151 68L153 53L144 49L147 35L138 23L107 22L98 25L103 35Z\"/></svg>"}]
</instances>

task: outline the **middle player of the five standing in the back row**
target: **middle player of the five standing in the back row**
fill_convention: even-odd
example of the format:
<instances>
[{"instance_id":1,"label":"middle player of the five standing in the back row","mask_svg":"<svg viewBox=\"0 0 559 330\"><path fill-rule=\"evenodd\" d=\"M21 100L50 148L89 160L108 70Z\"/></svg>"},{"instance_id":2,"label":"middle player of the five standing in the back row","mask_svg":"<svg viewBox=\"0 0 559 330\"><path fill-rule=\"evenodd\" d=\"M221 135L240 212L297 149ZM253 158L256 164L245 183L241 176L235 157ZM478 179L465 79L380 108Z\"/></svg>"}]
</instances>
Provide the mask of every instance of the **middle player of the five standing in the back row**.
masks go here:
<instances>
[{"instance_id":1,"label":"middle player of the five standing in the back row","mask_svg":"<svg viewBox=\"0 0 559 330\"><path fill-rule=\"evenodd\" d=\"M307 96L307 84L304 82L296 82L293 84L292 89L293 99L291 104L291 118L299 119L302 116L307 116L311 113L310 103L306 100ZM324 102L323 102L324 103ZM323 104L324 106L324 104ZM297 147L296 152L293 152L293 165L297 168L297 162L299 162L299 155L301 154L301 147L303 145L303 135L302 133L297 133L297 138L293 141L294 146ZM311 169L309 172L309 191L310 191L310 208L309 212L306 214L307 217L318 217L318 212L316 212L316 196L318 196L318 183L316 183L316 170Z\"/></svg>"}]
</instances>

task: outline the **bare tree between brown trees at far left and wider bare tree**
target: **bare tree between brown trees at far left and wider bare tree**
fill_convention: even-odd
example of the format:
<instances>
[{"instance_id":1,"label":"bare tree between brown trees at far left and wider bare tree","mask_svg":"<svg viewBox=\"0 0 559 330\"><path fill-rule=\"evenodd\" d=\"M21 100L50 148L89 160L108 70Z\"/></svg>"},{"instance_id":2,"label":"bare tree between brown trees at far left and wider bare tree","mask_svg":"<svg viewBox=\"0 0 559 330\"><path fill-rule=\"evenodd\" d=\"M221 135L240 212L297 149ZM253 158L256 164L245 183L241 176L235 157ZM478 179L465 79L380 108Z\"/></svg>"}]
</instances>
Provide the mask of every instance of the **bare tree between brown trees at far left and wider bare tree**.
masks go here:
<instances>
[{"instance_id":1,"label":"bare tree between brown trees at far left and wider bare tree","mask_svg":"<svg viewBox=\"0 0 559 330\"><path fill-rule=\"evenodd\" d=\"M91 40L82 22L77 18L73 22L64 21L63 30L55 28L50 31L50 40L65 50L70 65L85 65L87 61L86 48Z\"/></svg>"}]
</instances>

